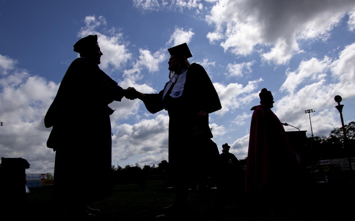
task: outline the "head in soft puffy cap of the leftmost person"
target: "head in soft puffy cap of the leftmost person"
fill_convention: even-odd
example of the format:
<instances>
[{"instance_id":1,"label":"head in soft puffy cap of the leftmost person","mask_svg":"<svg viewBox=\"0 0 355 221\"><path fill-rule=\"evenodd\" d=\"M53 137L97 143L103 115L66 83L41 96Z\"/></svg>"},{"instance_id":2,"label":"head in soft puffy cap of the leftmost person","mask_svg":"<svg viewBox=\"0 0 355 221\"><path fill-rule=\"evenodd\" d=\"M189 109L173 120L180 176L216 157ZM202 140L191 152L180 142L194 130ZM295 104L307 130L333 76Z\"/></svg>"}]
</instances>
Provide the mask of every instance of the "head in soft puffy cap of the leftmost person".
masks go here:
<instances>
[{"instance_id":1,"label":"head in soft puffy cap of the leftmost person","mask_svg":"<svg viewBox=\"0 0 355 221\"><path fill-rule=\"evenodd\" d=\"M101 63L100 57L103 53L100 51L97 35L88 35L78 40L74 45L74 51L80 53L80 57L88 58L96 64Z\"/></svg>"}]
</instances>

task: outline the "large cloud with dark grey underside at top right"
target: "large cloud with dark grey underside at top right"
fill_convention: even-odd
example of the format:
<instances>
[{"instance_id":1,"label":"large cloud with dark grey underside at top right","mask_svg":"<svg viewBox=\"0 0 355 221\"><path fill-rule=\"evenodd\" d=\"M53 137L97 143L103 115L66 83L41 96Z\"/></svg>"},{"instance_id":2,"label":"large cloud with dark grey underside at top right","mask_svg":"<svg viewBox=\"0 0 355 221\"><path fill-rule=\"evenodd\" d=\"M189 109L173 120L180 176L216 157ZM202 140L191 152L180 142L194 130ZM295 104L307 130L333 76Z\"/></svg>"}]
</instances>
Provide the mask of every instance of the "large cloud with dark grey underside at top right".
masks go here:
<instances>
[{"instance_id":1,"label":"large cloud with dark grey underside at top right","mask_svg":"<svg viewBox=\"0 0 355 221\"><path fill-rule=\"evenodd\" d=\"M266 62L286 64L303 52L300 40L327 40L330 31L348 13L349 28L355 2L300 0L282 4L278 0L220 0L211 9L206 21L215 27L207 34L211 43L220 41L225 51L235 55L261 53ZM350 9L350 11L349 11ZM351 29L353 30L353 29ZM269 49L260 52L263 47Z\"/></svg>"}]
</instances>

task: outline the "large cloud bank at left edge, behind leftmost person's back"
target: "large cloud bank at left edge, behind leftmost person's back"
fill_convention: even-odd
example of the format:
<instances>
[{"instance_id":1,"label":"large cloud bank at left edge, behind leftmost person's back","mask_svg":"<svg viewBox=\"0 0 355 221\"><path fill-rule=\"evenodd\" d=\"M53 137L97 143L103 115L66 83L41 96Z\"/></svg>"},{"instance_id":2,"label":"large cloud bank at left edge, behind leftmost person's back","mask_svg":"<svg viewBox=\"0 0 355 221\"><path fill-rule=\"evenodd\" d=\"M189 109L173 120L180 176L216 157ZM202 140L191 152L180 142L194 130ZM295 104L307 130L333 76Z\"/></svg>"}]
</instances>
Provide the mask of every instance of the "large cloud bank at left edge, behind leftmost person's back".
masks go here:
<instances>
[{"instance_id":1,"label":"large cloud bank at left edge, behind leftmost person's back","mask_svg":"<svg viewBox=\"0 0 355 221\"><path fill-rule=\"evenodd\" d=\"M53 172L54 152L46 145L50 129L44 127L43 119L58 87L17 68L15 63L7 66L6 75L0 78L0 119L4 122L0 155L26 159L31 164L27 173Z\"/></svg>"}]
</instances>

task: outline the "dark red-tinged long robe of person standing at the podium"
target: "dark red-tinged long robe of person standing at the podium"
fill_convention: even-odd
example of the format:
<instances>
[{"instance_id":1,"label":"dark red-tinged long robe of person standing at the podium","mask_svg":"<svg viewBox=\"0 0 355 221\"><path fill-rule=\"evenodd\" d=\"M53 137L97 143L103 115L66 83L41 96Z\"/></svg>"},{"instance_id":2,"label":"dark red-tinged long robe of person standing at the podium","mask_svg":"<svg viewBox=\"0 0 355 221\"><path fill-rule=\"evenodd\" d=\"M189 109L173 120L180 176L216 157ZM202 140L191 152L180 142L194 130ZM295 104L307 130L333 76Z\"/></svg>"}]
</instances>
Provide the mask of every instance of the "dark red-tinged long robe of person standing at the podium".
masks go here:
<instances>
[{"instance_id":1,"label":"dark red-tinged long robe of person standing at the podium","mask_svg":"<svg viewBox=\"0 0 355 221\"><path fill-rule=\"evenodd\" d=\"M281 191L290 186L292 149L285 130L270 108L254 110L249 135L247 192Z\"/></svg>"}]
</instances>

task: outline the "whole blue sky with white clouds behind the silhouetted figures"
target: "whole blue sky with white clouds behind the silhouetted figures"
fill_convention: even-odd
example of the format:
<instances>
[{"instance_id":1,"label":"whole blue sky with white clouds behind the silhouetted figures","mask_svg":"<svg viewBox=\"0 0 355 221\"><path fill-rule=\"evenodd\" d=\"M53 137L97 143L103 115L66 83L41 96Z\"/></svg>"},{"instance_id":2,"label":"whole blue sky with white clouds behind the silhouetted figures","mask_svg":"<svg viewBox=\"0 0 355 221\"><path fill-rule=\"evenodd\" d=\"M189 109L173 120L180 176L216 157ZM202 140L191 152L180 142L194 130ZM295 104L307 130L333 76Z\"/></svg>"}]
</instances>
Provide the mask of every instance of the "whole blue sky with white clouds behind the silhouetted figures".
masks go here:
<instances>
[{"instance_id":1,"label":"whole blue sky with white clouds behind the silhouetted figures","mask_svg":"<svg viewBox=\"0 0 355 221\"><path fill-rule=\"evenodd\" d=\"M335 95L343 97L345 123L355 119L350 0L3 0L0 33L0 156L27 159L27 173L54 170L43 118L78 57L73 44L88 34L99 37L100 68L122 87L146 93L159 92L168 81L166 49L187 42L190 62L207 70L222 102L210 115L213 140L220 151L228 143L238 159L247 155L250 108L263 87L273 92L279 119L308 136L305 109L316 110L315 135L327 136L341 125ZM165 111L150 114L139 100L110 107L117 109L111 115L113 165L168 159Z\"/></svg>"}]
</instances>

